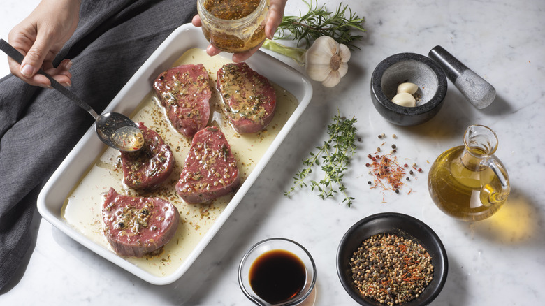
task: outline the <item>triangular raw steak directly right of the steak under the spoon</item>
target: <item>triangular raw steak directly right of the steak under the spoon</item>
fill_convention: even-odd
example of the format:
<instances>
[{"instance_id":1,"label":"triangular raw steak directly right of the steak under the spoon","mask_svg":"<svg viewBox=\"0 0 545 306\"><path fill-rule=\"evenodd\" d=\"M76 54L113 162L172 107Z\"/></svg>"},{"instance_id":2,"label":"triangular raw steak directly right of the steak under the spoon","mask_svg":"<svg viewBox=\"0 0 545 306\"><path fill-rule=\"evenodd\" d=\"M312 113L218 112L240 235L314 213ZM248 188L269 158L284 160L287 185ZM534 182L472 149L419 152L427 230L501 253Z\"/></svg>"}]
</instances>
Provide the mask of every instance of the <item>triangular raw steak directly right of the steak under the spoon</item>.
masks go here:
<instances>
[{"instance_id":1,"label":"triangular raw steak directly right of the steak under the spoon","mask_svg":"<svg viewBox=\"0 0 545 306\"><path fill-rule=\"evenodd\" d=\"M215 127L198 131L191 143L176 184L187 203L205 203L238 188L237 161L224 133Z\"/></svg>"}]
</instances>

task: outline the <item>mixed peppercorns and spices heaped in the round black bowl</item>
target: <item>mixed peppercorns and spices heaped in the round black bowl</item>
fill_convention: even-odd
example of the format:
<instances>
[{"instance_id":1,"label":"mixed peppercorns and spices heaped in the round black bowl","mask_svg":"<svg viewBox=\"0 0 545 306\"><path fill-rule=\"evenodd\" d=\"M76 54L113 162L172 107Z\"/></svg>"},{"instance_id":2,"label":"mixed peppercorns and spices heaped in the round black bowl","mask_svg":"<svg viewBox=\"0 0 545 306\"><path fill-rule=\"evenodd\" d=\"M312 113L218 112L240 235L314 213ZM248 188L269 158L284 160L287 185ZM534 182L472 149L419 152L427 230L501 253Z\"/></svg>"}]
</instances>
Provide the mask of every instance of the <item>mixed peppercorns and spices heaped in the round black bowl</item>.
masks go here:
<instances>
[{"instance_id":1,"label":"mixed peppercorns and spices heaped in the round black bowl","mask_svg":"<svg viewBox=\"0 0 545 306\"><path fill-rule=\"evenodd\" d=\"M386 305L418 298L433 279L430 254L420 244L393 234L364 240L350 258L354 285L363 296Z\"/></svg>"}]
</instances>

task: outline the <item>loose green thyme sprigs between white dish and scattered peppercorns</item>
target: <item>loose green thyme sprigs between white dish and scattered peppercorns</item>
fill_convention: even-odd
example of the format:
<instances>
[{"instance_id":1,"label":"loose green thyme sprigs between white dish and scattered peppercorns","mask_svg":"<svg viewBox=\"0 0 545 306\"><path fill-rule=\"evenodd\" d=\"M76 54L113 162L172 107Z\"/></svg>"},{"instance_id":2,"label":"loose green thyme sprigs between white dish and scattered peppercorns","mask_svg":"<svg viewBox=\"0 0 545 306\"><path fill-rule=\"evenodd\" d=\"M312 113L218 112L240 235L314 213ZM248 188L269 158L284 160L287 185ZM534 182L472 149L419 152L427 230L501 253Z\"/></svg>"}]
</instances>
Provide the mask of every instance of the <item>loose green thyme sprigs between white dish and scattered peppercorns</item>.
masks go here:
<instances>
[{"instance_id":1,"label":"loose green thyme sprigs between white dish and scattered peppercorns","mask_svg":"<svg viewBox=\"0 0 545 306\"><path fill-rule=\"evenodd\" d=\"M332 198L337 193L342 193L344 199L342 203L347 203L348 207L352 204L351 196L347 194L347 188L342 182L344 171L347 170L350 159L356 153L356 131L354 126L357 119L346 119L335 115L333 123L328 125L329 139L324 141L324 145L316 147L317 153L310 152L310 157L303 159L303 170L293 177L293 187L289 191L284 191L284 196L290 196L298 188L307 187L305 180L312 173L314 166L319 166L324 172L324 178L319 181L310 180L310 190L319 191L319 197L322 199ZM338 188L338 190L337 190Z\"/></svg>"}]
</instances>

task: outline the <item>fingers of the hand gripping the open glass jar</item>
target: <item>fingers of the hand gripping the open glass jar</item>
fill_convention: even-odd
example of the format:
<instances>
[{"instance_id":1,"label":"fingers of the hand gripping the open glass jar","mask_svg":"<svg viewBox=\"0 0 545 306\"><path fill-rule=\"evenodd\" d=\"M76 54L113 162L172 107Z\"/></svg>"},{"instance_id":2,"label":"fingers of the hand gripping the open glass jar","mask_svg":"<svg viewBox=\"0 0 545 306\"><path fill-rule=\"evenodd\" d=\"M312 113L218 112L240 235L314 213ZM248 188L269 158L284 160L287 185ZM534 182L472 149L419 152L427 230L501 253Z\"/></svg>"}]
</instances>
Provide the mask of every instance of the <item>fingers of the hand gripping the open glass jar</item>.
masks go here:
<instances>
[{"instance_id":1,"label":"fingers of the hand gripping the open glass jar","mask_svg":"<svg viewBox=\"0 0 545 306\"><path fill-rule=\"evenodd\" d=\"M286 8L286 2L288 0L270 0L270 6L269 6L269 16L267 19L267 22L265 24L265 36L269 39L273 39L273 36L275 36L276 29L282 22L282 16L284 16L284 8ZM193 17L193 20L191 20L191 24L193 24L195 27L201 27L201 17L196 15ZM245 52L240 53L234 53L233 54L233 61L235 63L240 63L241 61L245 61L249 59L259 48L261 48L261 45L263 43L259 44L257 47L253 48L252 50L248 50ZM214 56L216 54L219 54L221 50L216 48L213 45L208 45L208 48L206 48L206 53L210 56Z\"/></svg>"}]
</instances>

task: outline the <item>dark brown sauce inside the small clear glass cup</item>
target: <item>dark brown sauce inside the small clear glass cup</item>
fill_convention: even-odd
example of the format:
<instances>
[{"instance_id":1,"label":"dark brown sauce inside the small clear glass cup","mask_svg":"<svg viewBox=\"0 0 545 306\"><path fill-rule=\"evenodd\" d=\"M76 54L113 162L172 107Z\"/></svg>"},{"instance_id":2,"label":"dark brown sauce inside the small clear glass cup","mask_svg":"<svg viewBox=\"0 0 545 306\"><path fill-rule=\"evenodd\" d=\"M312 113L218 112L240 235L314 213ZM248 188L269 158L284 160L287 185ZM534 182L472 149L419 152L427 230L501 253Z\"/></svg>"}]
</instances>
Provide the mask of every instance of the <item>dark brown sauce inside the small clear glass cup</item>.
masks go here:
<instances>
[{"instance_id":1,"label":"dark brown sauce inside the small clear glass cup","mask_svg":"<svg viewBox=\"0 0 545 306\"><path fill-rule=\"evenodd\" d=\"M297 296L305 287L306 279L303 261L284 249L261 254L249 270L250 286L270 304L282 303Z\"/></svg>"}]
</instances>

